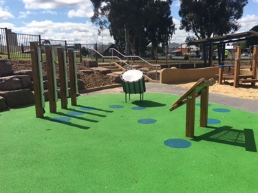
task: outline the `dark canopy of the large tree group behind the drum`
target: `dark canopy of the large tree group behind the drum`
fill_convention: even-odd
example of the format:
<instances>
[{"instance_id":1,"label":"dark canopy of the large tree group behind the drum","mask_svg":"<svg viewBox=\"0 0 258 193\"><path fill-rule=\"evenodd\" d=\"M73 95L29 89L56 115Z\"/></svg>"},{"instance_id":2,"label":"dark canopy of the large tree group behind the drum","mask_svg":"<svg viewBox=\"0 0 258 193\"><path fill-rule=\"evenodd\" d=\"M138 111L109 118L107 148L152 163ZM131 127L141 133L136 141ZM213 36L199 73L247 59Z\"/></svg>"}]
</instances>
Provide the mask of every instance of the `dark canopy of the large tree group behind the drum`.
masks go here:
<instances>
[{"instance_id":1,"label":"dark canopy of the large tree group behind the drum","mask_svg":"<svg viewBox=\"0 0 258 193\"><path fill-rule=\"evenodd\" d=\"M109 29L111 36L126 54L132 45L140 54L151 43L166 45L175 31L171 16L172 0L91 0L94 5L92 23L99 32Z\"/></svg>"}]
</instances>

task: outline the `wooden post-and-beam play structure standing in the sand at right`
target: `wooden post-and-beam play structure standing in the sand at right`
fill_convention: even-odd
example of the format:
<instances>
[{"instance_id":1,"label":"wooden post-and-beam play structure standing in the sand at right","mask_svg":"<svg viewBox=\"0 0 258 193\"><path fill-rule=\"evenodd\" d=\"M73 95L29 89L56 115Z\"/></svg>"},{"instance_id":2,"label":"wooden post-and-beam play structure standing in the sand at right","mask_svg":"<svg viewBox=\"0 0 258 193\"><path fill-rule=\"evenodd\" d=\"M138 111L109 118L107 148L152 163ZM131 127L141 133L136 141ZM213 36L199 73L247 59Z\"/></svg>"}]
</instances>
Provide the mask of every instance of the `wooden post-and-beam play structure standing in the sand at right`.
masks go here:
<instances>
[{"instance_id":1,"label":"wooden post-and-beam play structure standing in the sand at right","mask_svg":"<svg viewBox=\"0 0 258 193\"><path fill-rule=\"evenodd\" d=\"M252 56L252 75L241 75L240 74L240 61L241 61L241 47L237 47L237 59L235 59L235 65L219 65L219 80L218 83L222 84L223 79L233 79L233 86L236 88L240 83L251 83L252 86L255 86L255 83L258 82L257 79L257 63L258 63L258 45L253 47L253 56ZM234 73L224 74L224 67L234 67Z\"/></svg>"}]
</instances>

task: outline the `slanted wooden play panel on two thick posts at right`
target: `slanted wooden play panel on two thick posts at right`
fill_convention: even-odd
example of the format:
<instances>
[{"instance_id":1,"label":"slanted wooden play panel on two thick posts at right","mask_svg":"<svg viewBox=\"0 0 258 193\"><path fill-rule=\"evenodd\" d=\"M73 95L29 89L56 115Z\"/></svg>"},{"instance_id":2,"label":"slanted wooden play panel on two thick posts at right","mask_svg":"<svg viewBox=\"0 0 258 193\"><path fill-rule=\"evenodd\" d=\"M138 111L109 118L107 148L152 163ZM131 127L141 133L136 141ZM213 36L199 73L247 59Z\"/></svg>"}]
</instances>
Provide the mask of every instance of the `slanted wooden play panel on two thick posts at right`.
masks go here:
<instances>
[{"instance_id":1,"label":"slanted wooden play panel on two thick posts at right","mask_svg":"<svg viewBox=\"0 0 258 193\"><path fill-rule=\"evenodd\" d=\"M215 84L215 80L201 78L184 95L175 101L169 109L173 111L186 104L186 137L193 137L195 130L195 98L201 96L200 102L200 126L208 124L208 87Z\"/></svg>"}]
</instances>

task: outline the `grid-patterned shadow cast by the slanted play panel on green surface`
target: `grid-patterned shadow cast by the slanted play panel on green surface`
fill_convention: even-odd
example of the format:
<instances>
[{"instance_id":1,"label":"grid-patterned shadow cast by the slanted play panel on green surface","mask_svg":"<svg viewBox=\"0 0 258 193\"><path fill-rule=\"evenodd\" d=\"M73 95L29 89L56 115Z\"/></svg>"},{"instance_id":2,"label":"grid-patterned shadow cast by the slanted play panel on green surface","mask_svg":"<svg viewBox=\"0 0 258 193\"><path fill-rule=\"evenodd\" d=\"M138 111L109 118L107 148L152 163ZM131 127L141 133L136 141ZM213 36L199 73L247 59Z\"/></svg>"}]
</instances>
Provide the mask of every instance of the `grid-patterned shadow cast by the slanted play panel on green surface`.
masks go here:
<instances>
[{"instance_id":1,"label":"grid-patterned shadow cast by the slanted play panel on green surface","mask_svg":"<svg viewBox=\"0 0 258 193\"><path fill-rule=\"evenodd\" d=\"M246 151L257 152L255 145L255 136L253 130L244 128L244 130L237 130L230 126L222 126L219 128L208 126L208 128L214 128L209 133L193 137L193 141L213 141L220 144L228 144L232 146L240 146L246 148Z\"/></svg>"}]
</instances>

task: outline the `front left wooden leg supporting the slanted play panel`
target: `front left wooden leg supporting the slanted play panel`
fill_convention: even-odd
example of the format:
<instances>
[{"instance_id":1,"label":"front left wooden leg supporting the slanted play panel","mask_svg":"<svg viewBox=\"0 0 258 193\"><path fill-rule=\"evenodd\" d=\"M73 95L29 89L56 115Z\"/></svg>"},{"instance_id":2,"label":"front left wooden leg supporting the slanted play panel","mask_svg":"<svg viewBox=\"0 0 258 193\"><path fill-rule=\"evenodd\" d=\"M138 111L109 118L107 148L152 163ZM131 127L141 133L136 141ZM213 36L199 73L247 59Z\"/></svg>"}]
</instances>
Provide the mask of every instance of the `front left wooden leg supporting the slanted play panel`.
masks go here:
<instances>
[{"instance_id":1,"label":"front left wooden leg supporting the slanted play panel","mask_svg":"<svg viewBox=\"0 0 258 193\"><path fill-rule=\"evenodd\" d=\"M195 89L186 97L186 137L195 132Z\"/></svg>"}]
</instances>

